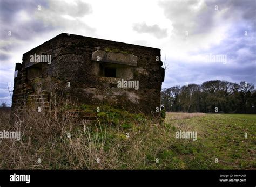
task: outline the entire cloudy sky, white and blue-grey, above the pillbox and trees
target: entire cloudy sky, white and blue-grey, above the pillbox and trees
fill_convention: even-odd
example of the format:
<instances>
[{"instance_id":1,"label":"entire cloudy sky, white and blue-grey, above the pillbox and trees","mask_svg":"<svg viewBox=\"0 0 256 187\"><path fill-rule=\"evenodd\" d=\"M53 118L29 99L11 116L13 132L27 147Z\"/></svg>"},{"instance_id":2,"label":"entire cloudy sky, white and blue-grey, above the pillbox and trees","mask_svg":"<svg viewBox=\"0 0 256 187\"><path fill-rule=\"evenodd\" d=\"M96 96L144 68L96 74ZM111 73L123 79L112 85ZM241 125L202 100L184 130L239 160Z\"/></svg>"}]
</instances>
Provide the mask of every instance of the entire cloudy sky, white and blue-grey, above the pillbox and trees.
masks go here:
<instances>
[{"instance_id":1,"label":"entire cloudy sky, white and blue-grey, above the pillbox and trees","mask_svg":"<svg viewBox=\"0 0 256 187\"><path fill-rule=\"evenodd\" d=\"M161 49L163 88L256 83L256 0L0 0L0 103L23 53L64 32ZM256 85L256 84L255 84Z\"/></svg>"}]
</instances>

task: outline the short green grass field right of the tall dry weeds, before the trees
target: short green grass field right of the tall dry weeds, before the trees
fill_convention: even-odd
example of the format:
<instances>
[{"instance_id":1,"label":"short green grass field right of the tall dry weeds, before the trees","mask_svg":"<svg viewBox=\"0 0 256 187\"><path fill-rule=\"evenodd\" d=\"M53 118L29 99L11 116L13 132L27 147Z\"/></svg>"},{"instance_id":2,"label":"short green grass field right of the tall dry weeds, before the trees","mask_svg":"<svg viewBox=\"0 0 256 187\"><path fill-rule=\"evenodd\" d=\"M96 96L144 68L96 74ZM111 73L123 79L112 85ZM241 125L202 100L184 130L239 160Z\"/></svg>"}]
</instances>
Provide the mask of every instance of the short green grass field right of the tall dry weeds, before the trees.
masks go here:
<instances>
[{"instance_id":1,"label":"short green grass field right of the tall dry weeds, before the trees","mask_svg":"<svg viewBox=\"0 0 256 187\"><path fill-rule=\"evenodd\" d=\"M166 116L168 120L173 114L167 113ZM256 167L255 115L206 114L190 119L171 120L167 124L178 130L198 132L197 141L176 139L174 147L171 147L186 169Z\"/></svg>"}]
</instances>

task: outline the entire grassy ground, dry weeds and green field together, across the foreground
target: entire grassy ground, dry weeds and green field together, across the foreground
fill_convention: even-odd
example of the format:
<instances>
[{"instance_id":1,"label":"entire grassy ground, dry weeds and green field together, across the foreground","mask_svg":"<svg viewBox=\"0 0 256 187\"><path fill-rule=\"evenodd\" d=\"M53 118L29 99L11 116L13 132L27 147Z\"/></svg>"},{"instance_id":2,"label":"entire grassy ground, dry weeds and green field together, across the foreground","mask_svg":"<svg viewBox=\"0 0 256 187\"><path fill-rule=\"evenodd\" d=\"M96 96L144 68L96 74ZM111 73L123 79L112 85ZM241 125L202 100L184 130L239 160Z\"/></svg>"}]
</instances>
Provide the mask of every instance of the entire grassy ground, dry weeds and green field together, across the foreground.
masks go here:
<instances>
[{"instance_id":1,"label":"entire grassy ground, dry weeds and green field together, across the foreground","mask_svg":"<svg viewBox=\"0 0 256 187\"><path fill-rule=\"evenodd\" d=\"M0 140L0 169L256 169L255 115L167 112L160 124L109 106L96 121L63 115L29 112L10 126L0 113L3 129L22 132ZM197 140L177 139L180 130Z\"/></svg>"}]
</instances>

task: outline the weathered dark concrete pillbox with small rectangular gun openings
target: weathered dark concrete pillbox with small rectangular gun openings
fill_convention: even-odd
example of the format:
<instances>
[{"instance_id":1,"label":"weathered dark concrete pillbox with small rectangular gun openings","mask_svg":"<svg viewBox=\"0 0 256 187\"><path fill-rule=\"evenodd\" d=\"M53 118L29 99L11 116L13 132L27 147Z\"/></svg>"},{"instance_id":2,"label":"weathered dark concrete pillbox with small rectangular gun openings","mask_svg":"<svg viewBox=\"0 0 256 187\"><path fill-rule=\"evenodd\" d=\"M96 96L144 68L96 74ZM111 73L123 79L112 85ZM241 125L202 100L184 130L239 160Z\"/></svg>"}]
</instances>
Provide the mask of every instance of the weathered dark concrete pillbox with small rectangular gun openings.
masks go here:
<instances>
[{"instance_id":1,"label":"weathered dark concrete pillbox with small rectangular gun openings","mask_svg":"<svg viewBox=\"0 0 256 187\"><path fill-rule=\"evenodd\" d=\"M51 55L51 63L30 62L34 54ZM57 89L80 103L104 103L150 114L160 107L164 80L161 66L160 49L60 34L23 55L15 78L13 105L22 93L32 95L24 96L26 102L31 97L42 97L48 106L52 90ZM40 69L41 76L37 77ZM122 79L138 81L139 88L118 88Z\"/></svg>"}]
</instances>

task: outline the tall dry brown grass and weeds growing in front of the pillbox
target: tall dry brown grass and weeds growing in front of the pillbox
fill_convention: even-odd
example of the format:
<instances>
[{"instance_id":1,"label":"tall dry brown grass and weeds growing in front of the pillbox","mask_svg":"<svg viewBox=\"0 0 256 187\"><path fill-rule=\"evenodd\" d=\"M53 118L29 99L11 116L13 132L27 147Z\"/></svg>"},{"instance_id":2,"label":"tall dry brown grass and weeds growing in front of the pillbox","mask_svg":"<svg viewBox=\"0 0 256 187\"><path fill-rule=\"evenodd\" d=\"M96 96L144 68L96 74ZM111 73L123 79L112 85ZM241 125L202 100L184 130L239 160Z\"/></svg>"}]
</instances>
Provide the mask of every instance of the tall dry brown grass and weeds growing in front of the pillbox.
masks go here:
<instances>
[{"instance_id":1,"label":"tall dry brown grass and weeds growing in front of the pillbox","mask_svg":"<svg viewBox=\"0 0 256 187\"><path fill-rule=\"evenodd\" d=\"M0 131L21 132L20 141L0 139L1 169L157 169L154 159L173 139L170 130L151 120L132 121L124 129L53 108L21 110L15 120L1 113Z\"/></svg>"}]
</instances>

